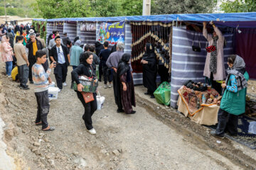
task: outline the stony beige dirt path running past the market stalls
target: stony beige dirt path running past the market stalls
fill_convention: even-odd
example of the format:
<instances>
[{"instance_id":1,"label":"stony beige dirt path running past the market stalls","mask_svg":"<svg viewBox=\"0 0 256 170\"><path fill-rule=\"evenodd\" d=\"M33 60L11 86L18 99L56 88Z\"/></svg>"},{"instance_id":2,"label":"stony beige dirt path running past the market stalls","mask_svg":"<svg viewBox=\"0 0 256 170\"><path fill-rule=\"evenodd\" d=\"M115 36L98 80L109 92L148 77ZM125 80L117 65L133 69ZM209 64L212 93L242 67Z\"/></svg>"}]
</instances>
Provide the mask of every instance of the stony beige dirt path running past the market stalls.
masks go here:
<instances>
[{"instance_id":1,"label":"stony beige dirt path running past the market stalls","mask_svg":"<svg viewBox=\"0 0 256 170\"><path fill-rule=\"evenodd\" d=\"M90 135L82 121L82 104L70 89L68 75L68 86L60 92L58 100L50 101L48 122L55 126L53 132L42 132L33 123L33 86L30 85L30 91L22 91L17 83L0 75L0 89L6 95L6 111L1 117L10 131L5 135L6 142L9 154L22 158L16 159L21 169L246 168L201 142L191 142L176 128L156 119L142 102L138 102L134 115L116 113L113 90L103 89L102 84L99 91L106 101L103 110L92 116L97 135Z\"/></svg>"}]
</instances>

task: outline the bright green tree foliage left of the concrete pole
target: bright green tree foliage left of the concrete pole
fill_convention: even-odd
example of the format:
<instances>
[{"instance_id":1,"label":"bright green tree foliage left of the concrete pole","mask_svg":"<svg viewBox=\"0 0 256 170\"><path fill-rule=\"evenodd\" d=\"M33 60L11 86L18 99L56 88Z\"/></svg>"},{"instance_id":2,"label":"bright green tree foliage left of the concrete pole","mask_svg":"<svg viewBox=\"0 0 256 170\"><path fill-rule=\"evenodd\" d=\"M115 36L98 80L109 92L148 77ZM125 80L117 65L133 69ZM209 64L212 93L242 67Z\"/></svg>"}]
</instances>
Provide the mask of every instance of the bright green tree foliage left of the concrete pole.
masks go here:
<instances>
[{"instance_id":1,"label":"bright green tree foliage left of the concrete pole","mask_svg":"<svg viewBox=\"0 0 256 170\"><path fill-rule=\"evenodd\" d=\"M42 18L142 15L142 0L36 0Z\"/></svg>"}]
</instances>

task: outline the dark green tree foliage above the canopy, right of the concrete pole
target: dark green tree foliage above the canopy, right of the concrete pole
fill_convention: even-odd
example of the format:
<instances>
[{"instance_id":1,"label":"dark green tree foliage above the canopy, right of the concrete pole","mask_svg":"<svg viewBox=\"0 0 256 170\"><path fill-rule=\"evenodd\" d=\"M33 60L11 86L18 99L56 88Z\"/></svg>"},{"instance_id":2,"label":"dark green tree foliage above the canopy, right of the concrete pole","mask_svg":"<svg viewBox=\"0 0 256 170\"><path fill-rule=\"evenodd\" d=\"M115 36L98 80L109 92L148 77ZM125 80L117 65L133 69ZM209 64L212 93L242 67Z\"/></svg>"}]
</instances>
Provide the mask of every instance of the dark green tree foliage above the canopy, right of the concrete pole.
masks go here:
<instances>
[{"instance_id":1,"label":"dark green tree foliage above the canopy, right of the concrete pole","mask_svg":"<svg viewBox=\"0 0 256 170\"><path fill-rule=\"evenodd\" d=\"M151 14L211 13L216 0L154 0Z\"/></svg>"}]
</instances>

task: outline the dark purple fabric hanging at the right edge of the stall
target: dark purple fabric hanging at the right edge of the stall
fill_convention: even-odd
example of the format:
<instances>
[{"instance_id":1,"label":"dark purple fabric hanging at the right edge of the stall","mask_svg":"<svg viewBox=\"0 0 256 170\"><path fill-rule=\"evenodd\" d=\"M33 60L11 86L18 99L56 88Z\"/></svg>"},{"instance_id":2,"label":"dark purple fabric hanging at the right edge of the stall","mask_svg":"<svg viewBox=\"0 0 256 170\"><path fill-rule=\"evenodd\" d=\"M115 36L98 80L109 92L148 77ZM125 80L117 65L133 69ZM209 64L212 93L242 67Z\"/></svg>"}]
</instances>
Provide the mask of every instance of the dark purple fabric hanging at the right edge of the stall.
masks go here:
<instances>
[{"instance_id":1,"label":"dark purple fabric hanging at the right edge of the stall","mask_svg":"<svg viewBox=\"0 0 256 170\"><path fill-rule=\"evenodd\" d=\"M256 79L256 28L240 29L235 33L235 54L245 60L245 69L250 79Z\"/></svg>"}]
</instances>

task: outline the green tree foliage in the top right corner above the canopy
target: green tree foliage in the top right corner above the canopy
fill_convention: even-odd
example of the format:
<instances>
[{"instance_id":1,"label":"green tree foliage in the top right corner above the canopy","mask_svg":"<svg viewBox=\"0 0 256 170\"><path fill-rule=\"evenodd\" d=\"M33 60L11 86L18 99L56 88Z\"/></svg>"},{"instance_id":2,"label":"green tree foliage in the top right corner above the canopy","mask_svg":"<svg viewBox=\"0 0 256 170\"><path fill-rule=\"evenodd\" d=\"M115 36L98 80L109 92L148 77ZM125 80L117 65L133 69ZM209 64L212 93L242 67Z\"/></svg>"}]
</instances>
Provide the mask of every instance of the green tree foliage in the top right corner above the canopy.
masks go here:
<instances>
[{"instance_id":1,"label":"green tree foliage in the top right corner above the canopy","mask_svg":"<svg viewBox=\"0 0 256 170\"><path fill-rule=\"evenodd\" d=\"M225 11L225 13L255 12L256 0L223 1L220 8Z\"/></svg>"}]
</instances>

